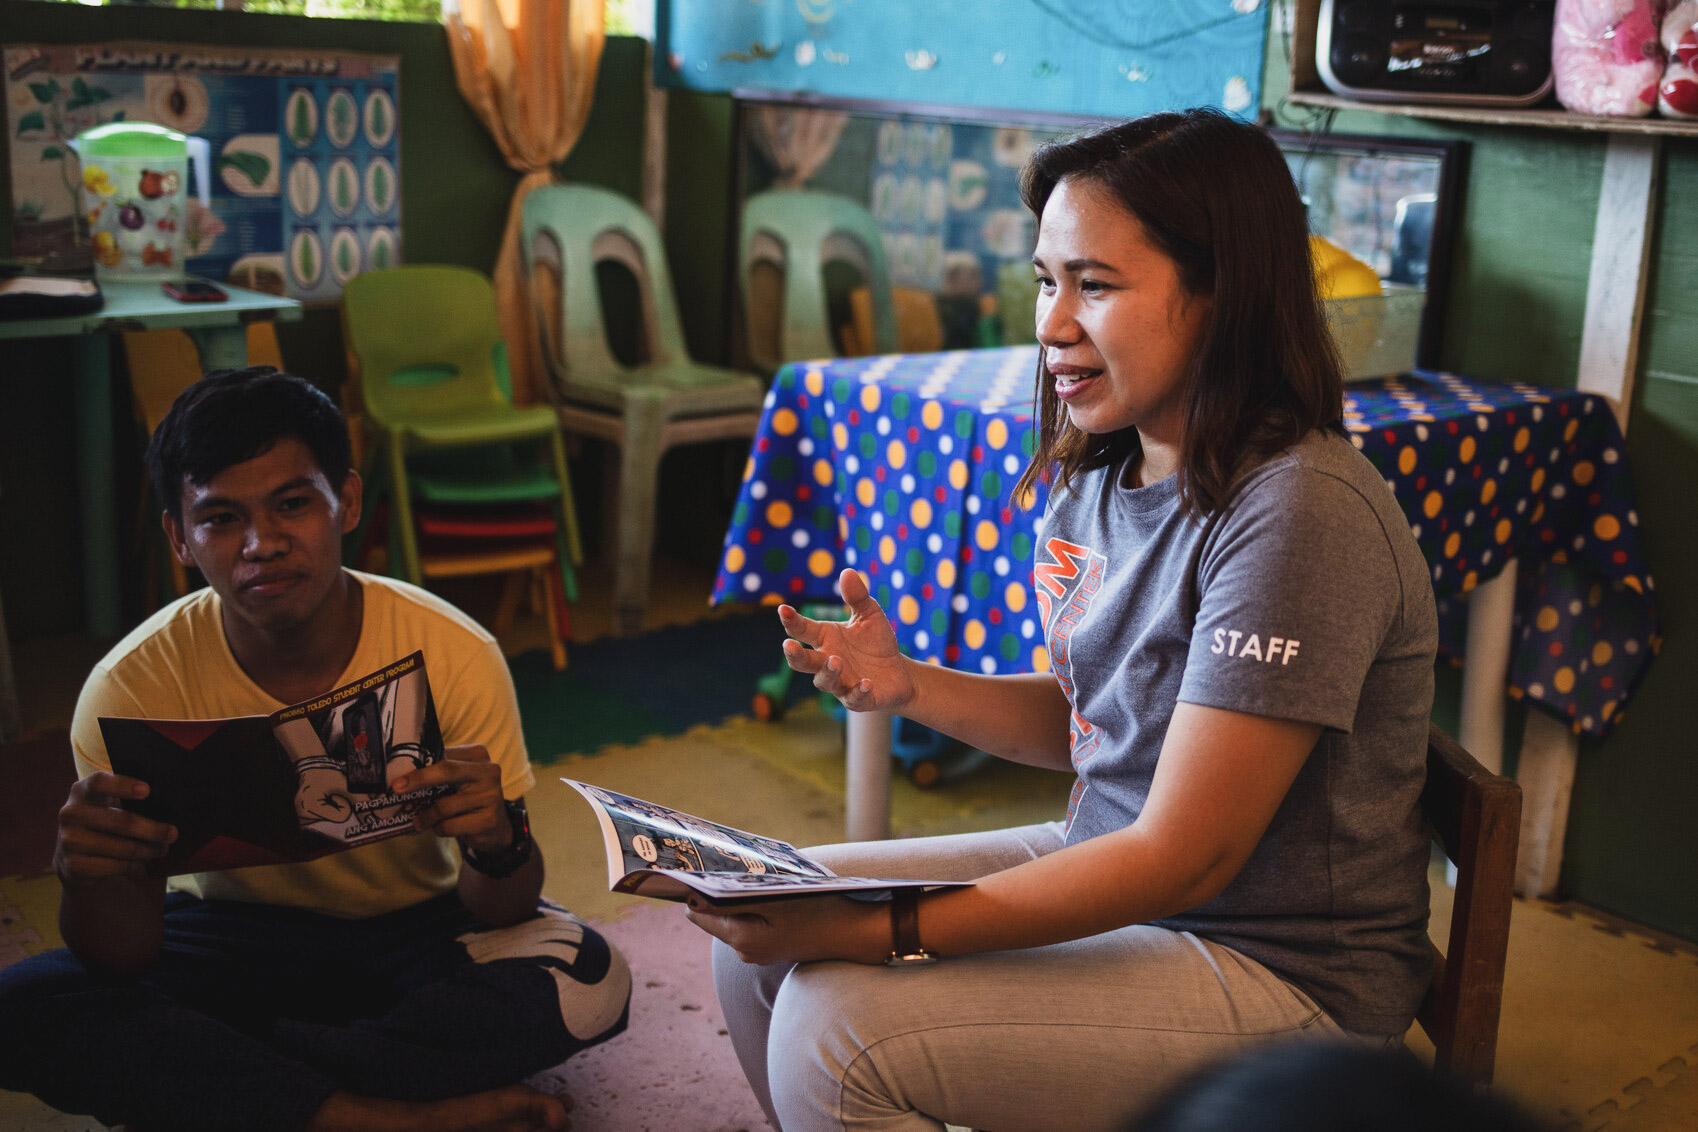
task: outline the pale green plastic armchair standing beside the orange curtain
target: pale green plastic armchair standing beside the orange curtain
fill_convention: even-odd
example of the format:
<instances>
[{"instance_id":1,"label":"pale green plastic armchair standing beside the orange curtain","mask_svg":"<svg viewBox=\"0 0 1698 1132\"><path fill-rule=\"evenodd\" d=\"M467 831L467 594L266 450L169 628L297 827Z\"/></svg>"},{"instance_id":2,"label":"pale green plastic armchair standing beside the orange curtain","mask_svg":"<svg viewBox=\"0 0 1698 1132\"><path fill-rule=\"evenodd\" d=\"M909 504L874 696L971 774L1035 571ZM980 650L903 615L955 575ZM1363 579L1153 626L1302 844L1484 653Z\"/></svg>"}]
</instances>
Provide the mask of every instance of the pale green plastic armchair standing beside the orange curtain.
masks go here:
<instances>
[{"instance_id":1,"label":"pale green plastic armchair standing beside the orange curtain","mask_svg":"<svg viewBox=\"0 0 1698 1132\"><path fill-rule=\"evenodd\" d=\"M625 197L591 185L547 185L525 197L523 248L531 309L560 428L620 450L615 631L642 628L654 552L661 457L674 445L752 438L766 387L739 370L689 358L672 275L654 221ZM637 365L608 348L596 265L630 268L642 294L644 343ZM559 272L559 295L538 268Z\"/></svg>"}]
</instances>

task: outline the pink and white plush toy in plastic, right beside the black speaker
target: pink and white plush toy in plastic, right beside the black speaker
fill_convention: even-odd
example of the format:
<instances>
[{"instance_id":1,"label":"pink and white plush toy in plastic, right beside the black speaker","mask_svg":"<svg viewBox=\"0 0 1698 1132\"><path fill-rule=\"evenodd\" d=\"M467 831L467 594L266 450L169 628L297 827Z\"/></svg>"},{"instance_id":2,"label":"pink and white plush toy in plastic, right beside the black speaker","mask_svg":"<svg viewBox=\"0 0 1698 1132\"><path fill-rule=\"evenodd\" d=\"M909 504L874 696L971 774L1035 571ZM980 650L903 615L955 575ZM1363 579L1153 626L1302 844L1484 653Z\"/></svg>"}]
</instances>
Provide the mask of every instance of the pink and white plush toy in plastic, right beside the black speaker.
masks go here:
<instances>
[{"instance_id":1,"label":"pink and white plush toy in plastic, right beside the black speaker","mask_svg":"<svg viewBox=\"0 0 1698 1132\"><path fill-rule=\"evenodd\" d=\"M1550 42L1557 100L1576 114L1650 114L1662 83L1664 7L1664 0L1557 0Z\"/></svg>"}]
</instances>

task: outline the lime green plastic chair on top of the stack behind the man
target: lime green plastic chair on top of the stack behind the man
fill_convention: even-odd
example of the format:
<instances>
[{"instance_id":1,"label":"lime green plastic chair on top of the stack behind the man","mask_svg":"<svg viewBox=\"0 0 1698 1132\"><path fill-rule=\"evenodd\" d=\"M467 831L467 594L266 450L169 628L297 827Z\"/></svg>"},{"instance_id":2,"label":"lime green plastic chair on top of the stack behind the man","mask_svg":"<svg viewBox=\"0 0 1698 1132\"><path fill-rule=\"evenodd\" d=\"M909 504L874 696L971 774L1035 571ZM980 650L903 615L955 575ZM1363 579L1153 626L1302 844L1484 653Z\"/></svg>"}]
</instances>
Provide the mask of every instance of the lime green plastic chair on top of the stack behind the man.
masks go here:
<instances>
[{"instance_id":1,"label":"lime green plastic chair on top of the stack behind the man","mask_svg":"<svg viewBox=\"0 0 1698 1132\"><path fill-rule=\"evenodd\" d=\"M372 426L367 468L387 465L391 574L424 580L414 497L460 506L545 501L555 511L565 599L576 601L572 567L582 550L565 445L552 409L511 401L489 280L460 266L385 268L348 280L341 305ZM542 448L547 457L538 458Z\"/></svg>"}]
</instances>

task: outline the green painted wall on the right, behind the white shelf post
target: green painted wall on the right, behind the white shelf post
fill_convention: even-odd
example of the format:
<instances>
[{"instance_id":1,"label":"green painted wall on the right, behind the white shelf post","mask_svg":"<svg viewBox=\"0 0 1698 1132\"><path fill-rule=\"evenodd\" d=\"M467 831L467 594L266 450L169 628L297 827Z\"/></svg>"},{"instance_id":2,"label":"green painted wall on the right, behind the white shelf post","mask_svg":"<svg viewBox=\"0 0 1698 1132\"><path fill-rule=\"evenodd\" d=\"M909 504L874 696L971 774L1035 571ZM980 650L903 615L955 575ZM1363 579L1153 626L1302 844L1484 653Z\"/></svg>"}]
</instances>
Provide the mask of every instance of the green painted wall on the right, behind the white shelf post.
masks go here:
<instances>
[{"instance_id":1,"label":"green painted wall on the right, behind the white shelf post","mask_svg":"<svg viewBox=\"0 0 1698 1132\"><path fill-rule=\"evenodd\" d=\"M1279 126L1321 119L1284 105L1287 59L1270 37L1263 105ZM1493 380L1574 385L1606 137L1459 127L1341 112L1335 132L1460 137L1470 146L1443 365ZM1583 742L1562 894L1698 939L1698 139L1662 141L1650 294L1627 451L1657 582L1662 652L1615 733ZM1688 202L1688 207L1679 207ZM1453 675L1438 718L1453 723ZM1511 750L1521 713L1511 711Z\"/></svg>"}]
</instances>

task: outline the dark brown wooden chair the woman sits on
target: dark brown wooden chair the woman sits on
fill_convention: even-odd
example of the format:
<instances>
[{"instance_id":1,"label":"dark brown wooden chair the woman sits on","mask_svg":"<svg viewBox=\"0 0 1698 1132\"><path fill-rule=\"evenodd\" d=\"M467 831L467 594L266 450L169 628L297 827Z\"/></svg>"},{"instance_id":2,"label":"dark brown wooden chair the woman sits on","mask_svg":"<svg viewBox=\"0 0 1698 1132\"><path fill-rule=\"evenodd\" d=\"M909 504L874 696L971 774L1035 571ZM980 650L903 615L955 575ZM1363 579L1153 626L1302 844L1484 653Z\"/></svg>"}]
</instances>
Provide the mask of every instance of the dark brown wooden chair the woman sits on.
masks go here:
<instances>
[{"instance_id":1,"label":"dark brown wooden chair the woman sits on","mask_svg":"<svg viewBox=\"0 0 1698 1132\"><path fill-rule=\"evenodd\" d=\"M1433 949L1433 983L1416 1022L1433 1042L1438 1073L1491 1084L1510 949L1515 849L1521 833L1521 787L1482 767L1460 743L1428 725L1421 813L1457 866L1457 896L1450 942L1443 954Z\"/></svg>"}]
</instances>

